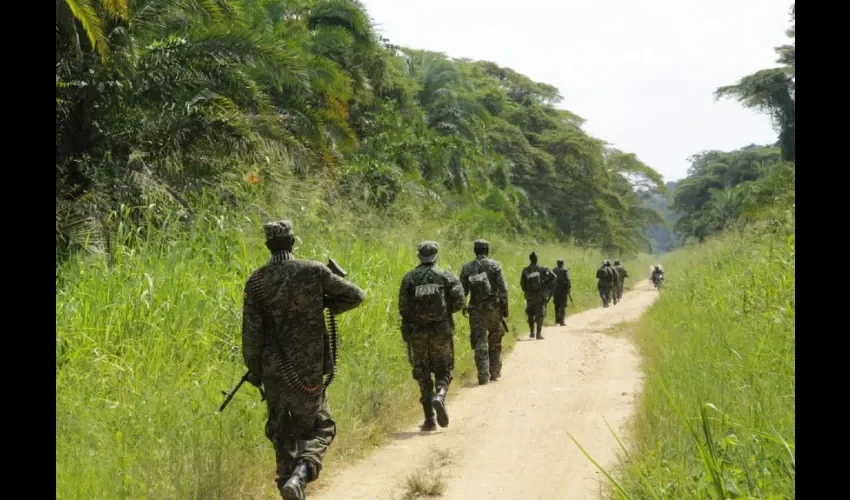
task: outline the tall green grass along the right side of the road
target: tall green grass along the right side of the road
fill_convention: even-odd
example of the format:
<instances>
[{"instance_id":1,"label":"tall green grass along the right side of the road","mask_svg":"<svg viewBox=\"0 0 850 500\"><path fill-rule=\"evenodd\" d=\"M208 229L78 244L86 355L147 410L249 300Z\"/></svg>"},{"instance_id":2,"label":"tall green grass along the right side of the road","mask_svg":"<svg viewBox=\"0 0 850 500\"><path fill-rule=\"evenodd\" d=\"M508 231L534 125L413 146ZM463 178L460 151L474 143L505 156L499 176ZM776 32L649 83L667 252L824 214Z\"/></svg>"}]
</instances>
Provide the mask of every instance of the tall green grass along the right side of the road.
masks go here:
<instances>
[{"instance_id":1,"label":"tall green grass along the right side of the road","mask_svg":"<svg viewBox=\"0 0 850 500\"><path fill-rule=\"evenodd\" d=\"M795 497L794 229L771 226L665 263L635 330L646 386L612 496Z\"/></svg>"}]
</instances>

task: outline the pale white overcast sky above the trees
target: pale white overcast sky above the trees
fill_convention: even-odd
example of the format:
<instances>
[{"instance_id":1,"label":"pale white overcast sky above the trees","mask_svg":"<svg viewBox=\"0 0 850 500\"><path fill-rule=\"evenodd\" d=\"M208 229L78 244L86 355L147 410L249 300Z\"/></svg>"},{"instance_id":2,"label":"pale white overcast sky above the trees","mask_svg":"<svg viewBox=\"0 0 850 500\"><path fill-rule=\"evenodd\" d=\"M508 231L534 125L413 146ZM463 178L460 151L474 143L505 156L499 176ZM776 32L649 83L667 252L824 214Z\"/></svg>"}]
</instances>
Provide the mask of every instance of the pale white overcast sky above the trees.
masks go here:
<instances>
[{"instance_id":1,"label":"pale white overcast sky above the trees","mask_svg":"<svg viewBox=\"0 0 850 500\"><path fill-rule=\"evenodd\" d=\"M391 43L492 61L560 89L558 107L666 181L688 157L773 144L767 115L717 87L775 67L793 0L362 0Z\"/></svg>"}]
</instances>

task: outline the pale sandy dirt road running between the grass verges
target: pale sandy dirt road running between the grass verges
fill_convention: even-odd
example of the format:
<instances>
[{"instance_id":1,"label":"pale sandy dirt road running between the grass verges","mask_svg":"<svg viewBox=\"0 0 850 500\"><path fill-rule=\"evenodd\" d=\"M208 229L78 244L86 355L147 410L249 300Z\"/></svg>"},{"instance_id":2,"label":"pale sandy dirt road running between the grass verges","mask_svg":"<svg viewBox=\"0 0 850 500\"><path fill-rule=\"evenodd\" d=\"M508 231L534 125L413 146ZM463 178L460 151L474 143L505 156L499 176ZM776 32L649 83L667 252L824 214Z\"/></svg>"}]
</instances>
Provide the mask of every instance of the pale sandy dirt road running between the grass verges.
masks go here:
<instances>
[{"instance_id":1,"label":"pale sandy dirt road running between the grass verges","mask_svg":"<svg viewBox=\"0 0 850 500\"><path fill-rule=\"evenodd\" d=\"M544 329L543 340L528 340L527 334L520 339L499 381L448 399L447 428L424 433L419 422L411 425L365 460L310 488L308 498L404 498L405 479L425 470L440 450L451 453L451 462L428 475L442 476L443 500L599 498L605 478L567 433L604 467L616 463L618 445L605 420L620 434L641 374L628 338L603 332L636 320L656 297L642 280L616 306L574 316L567 309L567 326Z\"/></svg>"}]
</instances>

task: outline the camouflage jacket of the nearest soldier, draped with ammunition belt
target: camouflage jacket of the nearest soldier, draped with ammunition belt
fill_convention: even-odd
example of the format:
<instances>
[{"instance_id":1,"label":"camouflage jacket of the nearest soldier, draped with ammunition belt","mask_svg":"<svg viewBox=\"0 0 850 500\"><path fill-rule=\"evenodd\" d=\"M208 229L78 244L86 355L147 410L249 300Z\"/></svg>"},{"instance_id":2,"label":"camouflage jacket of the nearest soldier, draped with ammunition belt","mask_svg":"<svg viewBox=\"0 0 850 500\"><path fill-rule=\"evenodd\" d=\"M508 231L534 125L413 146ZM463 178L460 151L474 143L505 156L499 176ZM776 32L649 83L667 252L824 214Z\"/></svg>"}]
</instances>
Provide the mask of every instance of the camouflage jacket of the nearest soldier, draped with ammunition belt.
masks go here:
<instances>
[{"instance_id":1,"label":"camouflage jacket of the nearest soldier, draped with ammunition belt","mask_svg":"<svg viewBox=\"0 0 850 500\"><path fill-rule=\"evenodd\" d=\"M261 271L266 310L274 321L268 330L264 330L259 298L252 287ZM242 309L245 366L262 377L264 367L278 366L273 360L274 350L280 346L305 385L322 384L327 333L324 309L340 314L359 306L365 298L363 290L333 274L320 262L295 259L261 267L245 284Z\"/></svg>"}]
</instances>

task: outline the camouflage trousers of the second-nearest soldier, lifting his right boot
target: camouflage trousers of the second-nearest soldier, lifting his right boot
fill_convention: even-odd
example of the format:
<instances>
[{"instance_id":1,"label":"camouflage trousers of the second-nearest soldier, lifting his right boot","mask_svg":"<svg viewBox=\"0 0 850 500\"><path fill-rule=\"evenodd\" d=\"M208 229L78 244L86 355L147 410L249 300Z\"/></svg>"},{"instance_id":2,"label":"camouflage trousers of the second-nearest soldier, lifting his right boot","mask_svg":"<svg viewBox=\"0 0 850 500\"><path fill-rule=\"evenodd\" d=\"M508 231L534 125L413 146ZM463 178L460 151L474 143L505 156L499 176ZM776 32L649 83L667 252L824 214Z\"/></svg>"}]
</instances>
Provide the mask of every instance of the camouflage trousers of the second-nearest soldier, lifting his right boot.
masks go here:
<instances>
[{"instance_id":1,"label":"camouflage trousers of the second-nearest soldier, lifting his right boot","mask_svg":"<svg viewBox=\"0 0 850 500\"><path fill-rule=\"evenodd\" d=\"M447 328L416 329L407 344L413 378L419 383L421 403L430 402L437 389L448 389L454 369L454 331ZM433 374L434 378L431 378Z\"/></svg>"}]
</instances>

